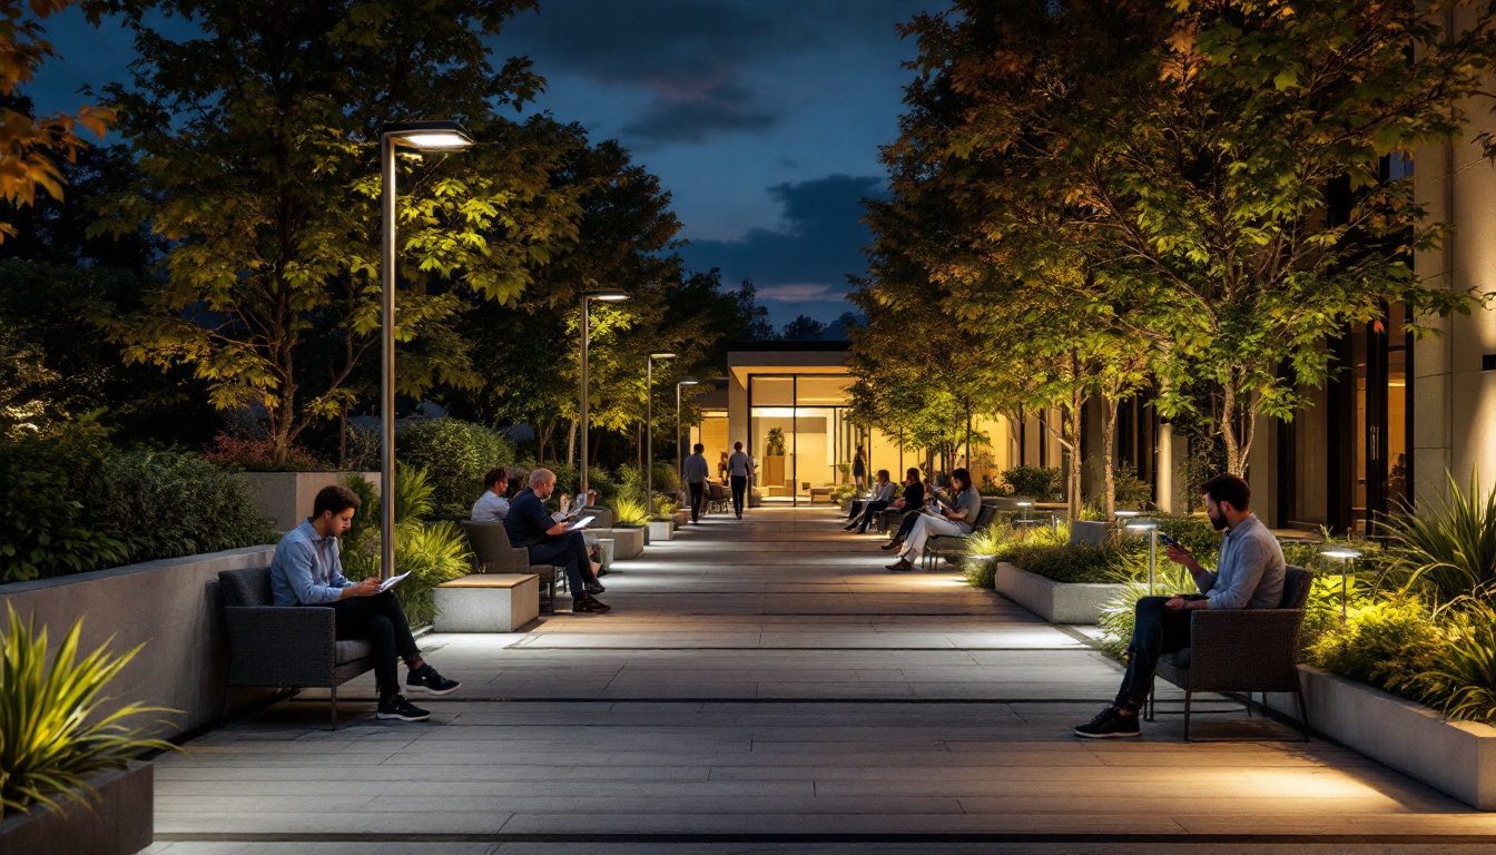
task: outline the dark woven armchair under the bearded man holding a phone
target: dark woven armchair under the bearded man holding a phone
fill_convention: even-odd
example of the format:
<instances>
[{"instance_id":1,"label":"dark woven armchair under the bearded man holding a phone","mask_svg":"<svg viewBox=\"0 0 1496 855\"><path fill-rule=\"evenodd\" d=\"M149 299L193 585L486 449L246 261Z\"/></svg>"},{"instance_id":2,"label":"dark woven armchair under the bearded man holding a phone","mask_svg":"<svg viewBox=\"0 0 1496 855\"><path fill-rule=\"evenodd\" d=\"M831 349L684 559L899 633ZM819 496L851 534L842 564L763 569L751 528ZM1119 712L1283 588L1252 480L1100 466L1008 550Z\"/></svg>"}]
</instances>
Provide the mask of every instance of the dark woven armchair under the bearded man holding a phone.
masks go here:
<instances>
[{"instance_id":1,"label":"dark woven armchair under the bearded man holding a phone","mask_svg":"<svg viewBox=\"0 0 1496 855\"><path fill-rule=\"evenodd\" d=\"M1293 565L1284 573L1284 599L1278 608L1194 612L1189 647L1158 659L1158 677L1185 690L1185 741L1189 735L1189 696L1195 692L1290 692L1299 701L1299 720L1309 741L1309 716L1299 683L1299 629L1313 573ZM1149 720L1153 699L1149 696ZM1266 707L1264 707L1266 708Z\"/></svg>"}]
</instances>

